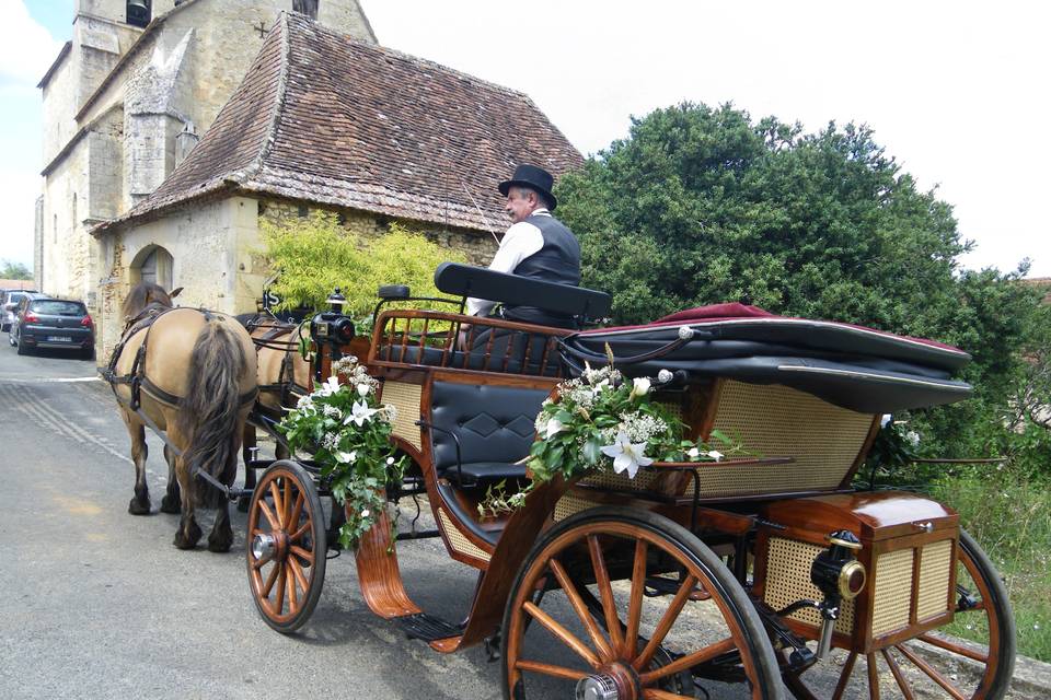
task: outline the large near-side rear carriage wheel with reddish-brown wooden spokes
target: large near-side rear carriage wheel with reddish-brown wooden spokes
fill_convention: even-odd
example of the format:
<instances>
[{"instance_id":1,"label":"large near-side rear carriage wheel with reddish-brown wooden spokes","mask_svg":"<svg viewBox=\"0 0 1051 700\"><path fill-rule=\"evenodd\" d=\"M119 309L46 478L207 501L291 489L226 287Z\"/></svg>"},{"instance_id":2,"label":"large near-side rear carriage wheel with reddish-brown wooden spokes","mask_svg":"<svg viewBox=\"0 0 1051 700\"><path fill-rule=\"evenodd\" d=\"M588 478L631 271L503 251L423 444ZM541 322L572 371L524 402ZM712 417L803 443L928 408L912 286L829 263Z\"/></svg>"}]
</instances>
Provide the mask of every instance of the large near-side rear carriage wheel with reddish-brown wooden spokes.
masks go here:
<instances>
[{"instance_id":1,"label":"large near-side rear carriage wheel with reddish-brown wooden spokes","mask_svg":"<svg viewBox=\"0 0 1051 700\"><path fill-rule=\"evenodd\" d=\"M548 530L519 570L503 631L505 698L782 697L740 584L689 530L646 511L597 508Z\"/></svg>"}]
</instances>

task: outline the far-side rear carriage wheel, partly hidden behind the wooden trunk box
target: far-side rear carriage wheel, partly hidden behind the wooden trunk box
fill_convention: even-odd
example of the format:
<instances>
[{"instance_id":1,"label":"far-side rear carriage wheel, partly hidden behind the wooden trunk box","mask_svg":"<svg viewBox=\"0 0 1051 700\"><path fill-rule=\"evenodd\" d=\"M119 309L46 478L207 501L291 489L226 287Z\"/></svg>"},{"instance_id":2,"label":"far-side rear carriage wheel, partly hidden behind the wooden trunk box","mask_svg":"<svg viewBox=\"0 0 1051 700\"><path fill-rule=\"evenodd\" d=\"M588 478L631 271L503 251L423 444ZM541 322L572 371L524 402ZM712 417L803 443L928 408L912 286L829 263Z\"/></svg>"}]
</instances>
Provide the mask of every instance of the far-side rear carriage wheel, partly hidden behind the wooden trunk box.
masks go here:
<instances>
[{"instance_id":1,"label":"far-side rear carriage wheel, partly hidden behind the wooden trunk box","mask_svg":"<svg viewBox=\"0 0 1051 700\"><path fill-rule=\"evenodd\" d=\"M873 698L880 697L880 682L897 686L905 698L1004 697L1015 666L1015 621L1007 591L989 557L966 530L960 530L958 551L955 621L965 626L970 637L981 638L980 643L927 632L865 657L850 654L831 692L820 692L802 677L786 677L793 693L798 698L854 697L848 690L853 673L855 682L867 685ZM858 661L865 662L864 675ZM854 695L859 692L861 687Z\"/></svg>"}]
</instances>

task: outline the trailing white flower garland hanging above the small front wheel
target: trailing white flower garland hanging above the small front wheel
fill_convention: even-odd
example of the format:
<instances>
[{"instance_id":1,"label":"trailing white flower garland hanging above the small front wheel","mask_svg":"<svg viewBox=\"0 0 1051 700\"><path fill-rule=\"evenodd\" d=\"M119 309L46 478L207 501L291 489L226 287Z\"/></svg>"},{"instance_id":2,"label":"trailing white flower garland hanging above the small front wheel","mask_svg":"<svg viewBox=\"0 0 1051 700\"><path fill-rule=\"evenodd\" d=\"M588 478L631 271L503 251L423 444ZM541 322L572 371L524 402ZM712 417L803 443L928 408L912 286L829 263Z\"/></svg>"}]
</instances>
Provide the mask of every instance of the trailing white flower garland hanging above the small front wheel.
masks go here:
<instances>
[{"instance_id":1,"label":"trailing white flower garland hanging above the small front wheel","mask_svg":"<svg viewBox=\"0 0 1051 700\"><path fill-rule=\"evenodd\" d=\"M277 429L293 453L313 454L333 498L347 506L339 544L354 548L386 508L385 487L401 480L405 457L394 456L390 438L396 410L377 401L379 382L353 355L334 362L332 371L333 376L299 399ZM345 384L339 375L346 377Z\"/></svg>"}]
</instances>

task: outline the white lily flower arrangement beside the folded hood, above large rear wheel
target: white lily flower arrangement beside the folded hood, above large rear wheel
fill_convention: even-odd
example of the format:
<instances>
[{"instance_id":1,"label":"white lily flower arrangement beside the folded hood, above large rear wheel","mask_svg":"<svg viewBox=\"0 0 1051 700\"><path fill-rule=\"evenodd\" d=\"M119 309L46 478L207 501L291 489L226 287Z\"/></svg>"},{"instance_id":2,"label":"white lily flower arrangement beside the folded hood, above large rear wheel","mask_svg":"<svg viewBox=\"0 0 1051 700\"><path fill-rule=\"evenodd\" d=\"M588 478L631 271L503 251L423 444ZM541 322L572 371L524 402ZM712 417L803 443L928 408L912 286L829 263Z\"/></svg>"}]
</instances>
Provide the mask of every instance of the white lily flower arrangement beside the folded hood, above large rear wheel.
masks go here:
<instances>
[{"instance_id":1,"label":"white lily flower arrangement beside the folded hood, above large rear wheel","mask_svg":"<svg viewBox=\"0 0 1051 700\"><path fill-rule=\"evenodd\" d=\"M497 485L478 512L485 516L515 510L538 483L556 476L600 469L634 479L640 467L654 462L719 462L727 454L747 454L740 441L718 430L711 439L721 452L700 440L683 440L685 425L651 400L651 387L647 377L626 382L612 364L597 370L586 365L579 378L558 384L555 398L545 399L536 416L528 460L532 482L511 495Z\"/></svg>"}]
</instances>

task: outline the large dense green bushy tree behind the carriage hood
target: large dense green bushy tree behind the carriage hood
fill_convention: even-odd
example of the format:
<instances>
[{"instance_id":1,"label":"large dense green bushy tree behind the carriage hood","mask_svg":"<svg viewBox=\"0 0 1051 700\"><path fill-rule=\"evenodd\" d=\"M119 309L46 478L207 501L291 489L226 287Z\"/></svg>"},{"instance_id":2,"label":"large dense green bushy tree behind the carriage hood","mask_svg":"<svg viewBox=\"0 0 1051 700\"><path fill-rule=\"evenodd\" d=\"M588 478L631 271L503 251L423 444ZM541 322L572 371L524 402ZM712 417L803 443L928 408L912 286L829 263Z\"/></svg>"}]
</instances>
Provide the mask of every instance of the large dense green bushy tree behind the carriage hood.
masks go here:
<instances>
[{"instance_id":1,"label":"large dense green bushy tree behind the carriage hood","mask_svg":"<svg viewBox=\"0 0 1051 700\"><path fill-rule=\"evenodd\" d=\"M936 411L938 450L973 451L975 420L1006 410L1037 295L1024 270L961 271L952 209L866 127L816 133L727 105L681 104L563 177L559 213L580 236L584 281L617 322L709 303L932 337L974 355L979 398Z\"/></svg>"}]
</instances>

